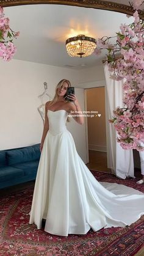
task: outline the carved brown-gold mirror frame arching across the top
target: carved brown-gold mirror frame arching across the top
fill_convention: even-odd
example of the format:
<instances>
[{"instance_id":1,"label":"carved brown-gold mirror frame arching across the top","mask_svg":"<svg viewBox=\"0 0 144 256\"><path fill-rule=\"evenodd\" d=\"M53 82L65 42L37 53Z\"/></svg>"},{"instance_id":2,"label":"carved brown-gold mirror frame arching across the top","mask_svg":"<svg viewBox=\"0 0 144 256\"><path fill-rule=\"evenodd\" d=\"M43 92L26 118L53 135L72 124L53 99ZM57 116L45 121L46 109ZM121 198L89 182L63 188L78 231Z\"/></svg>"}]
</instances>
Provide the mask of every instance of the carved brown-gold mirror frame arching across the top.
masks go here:
<instances>
[{"instance_id":1,"label":"carved brown-gold mirror frame arching across the top","mask_svg":"<svg viewBox=\"0 0 144 256\"><path fill-rule=\"evenodd\" d=\"M94 9L111 10L113 12L121 12L126 13L128 15L133 15L134 13L134 10L130 5L118 4L118 2L101 0L0 0L0 5L2 7L26 4L62 4ZM139 11L139 14L141 17L144 16L142 11Z\"/></svg>"}]
</instances>

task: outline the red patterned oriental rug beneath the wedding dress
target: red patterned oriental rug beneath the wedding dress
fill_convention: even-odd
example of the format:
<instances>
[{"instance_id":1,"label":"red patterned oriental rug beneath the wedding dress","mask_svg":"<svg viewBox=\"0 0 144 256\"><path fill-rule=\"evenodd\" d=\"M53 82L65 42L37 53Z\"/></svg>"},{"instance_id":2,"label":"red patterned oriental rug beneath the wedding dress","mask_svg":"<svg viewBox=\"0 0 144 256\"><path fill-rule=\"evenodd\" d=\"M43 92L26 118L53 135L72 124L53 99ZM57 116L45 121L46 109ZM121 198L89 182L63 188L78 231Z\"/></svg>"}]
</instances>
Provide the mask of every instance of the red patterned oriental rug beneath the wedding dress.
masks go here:
<instances>
[{"instance_id":1,"label":"red patterned oriental rug beneath the wedding dress","mask_svg":"<svg viewBox=\"0 0 144 256\"><path fill-rule=\"evenodd\" d=\"M131 186L144 192L136 180L120 180L104 172L92 172L98 181ZM29 225L33 188L1 197L0 255L135 255L144 245L144 216L129 227L90 230L87 235L50 235Z\"/></svg>"}]
</instances>

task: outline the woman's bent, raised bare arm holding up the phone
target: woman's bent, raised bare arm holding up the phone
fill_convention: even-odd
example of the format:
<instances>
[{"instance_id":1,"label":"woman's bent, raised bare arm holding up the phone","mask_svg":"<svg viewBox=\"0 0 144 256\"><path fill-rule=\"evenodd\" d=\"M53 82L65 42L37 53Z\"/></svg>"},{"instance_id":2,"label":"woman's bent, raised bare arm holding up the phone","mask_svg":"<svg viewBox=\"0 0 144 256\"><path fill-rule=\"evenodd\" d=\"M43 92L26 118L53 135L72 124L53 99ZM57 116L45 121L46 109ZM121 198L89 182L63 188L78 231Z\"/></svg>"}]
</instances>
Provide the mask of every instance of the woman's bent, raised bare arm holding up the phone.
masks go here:
<instances>
[{"instance_id":1,"label":"woman's bent, raised bare arm holding up the phone","mask_svg":"<svg viewBox=\"0 0 144 256\"><path fill-rule=\"evenodd\" d=\"M70 104L70 114L73 116L73 119L76 120L77 123L83 125L84 123L84 115L82 114L81 106L79 101L76 98L76 95L68 95L68 97L73 100L73 103Z\"/></svg>"}]
</instances>

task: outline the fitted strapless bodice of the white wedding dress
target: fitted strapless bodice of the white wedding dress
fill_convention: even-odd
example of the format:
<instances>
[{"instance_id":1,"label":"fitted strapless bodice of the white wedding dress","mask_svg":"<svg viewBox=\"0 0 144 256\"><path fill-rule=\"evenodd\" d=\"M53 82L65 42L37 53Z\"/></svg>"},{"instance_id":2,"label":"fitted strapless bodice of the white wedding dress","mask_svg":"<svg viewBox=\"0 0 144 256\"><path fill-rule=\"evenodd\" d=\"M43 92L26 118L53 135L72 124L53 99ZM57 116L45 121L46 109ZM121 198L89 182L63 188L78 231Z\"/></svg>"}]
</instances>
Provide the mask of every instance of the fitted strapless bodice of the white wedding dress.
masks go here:
<instances>
[{"instance_id":1,"label":"fitted strapless bodice of the white wedding dress","mask_svg":"<svg viewBox=\"0 0 144 256\"><path fill-rule=\"evenodd\" d=\"M51 111L48 109L49 133L58 134L67 131L68 112L64 109Z\"/></svg>"}]
</instances>

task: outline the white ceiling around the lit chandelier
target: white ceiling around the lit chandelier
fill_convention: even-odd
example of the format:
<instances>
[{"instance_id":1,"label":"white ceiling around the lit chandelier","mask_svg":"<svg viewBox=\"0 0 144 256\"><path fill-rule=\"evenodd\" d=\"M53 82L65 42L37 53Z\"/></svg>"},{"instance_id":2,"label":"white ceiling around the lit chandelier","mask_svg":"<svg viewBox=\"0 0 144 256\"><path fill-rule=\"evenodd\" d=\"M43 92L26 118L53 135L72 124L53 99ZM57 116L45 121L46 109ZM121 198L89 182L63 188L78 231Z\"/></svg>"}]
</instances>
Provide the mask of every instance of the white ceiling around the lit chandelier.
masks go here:
<instances>
[{"instance_id":1,"label":"white ceiling around the lit chandelier","mask_svg":"<svg viewBox=\"0 0 144 256\"><path fill-rule=\"evenodd\" d=\"M96 39L114 36L121 23L133 21L123 13L52 4L5 7L4 13L10 18L10 27L20 31L15 40L15 59L76 69L101 64L104 54L70 57L65 48L67 38L78 34Z\"/></svg>"}]
</instances>

